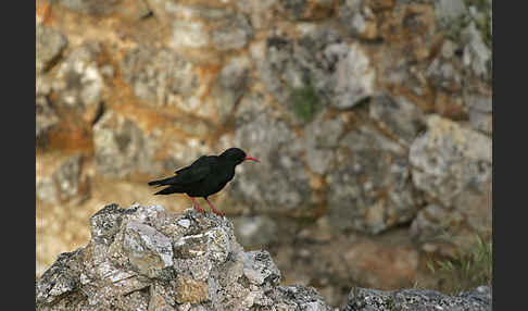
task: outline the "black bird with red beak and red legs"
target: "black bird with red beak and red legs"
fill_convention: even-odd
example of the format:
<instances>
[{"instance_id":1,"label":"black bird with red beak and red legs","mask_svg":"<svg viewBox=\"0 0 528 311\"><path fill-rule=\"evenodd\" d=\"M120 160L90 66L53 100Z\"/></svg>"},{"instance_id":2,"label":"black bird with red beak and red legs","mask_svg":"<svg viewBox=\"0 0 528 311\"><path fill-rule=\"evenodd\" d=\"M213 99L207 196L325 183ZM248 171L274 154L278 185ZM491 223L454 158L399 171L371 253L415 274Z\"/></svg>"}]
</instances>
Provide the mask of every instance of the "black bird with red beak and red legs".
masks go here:
<instances>
[{"instance_id":1,"label":"black bird with red beak and red legs","mask_svg":"<svg viewBox=\"0 0 528 311\"><path fill-rule=\"evenodd\" d=\"M192 164L175 172L176 176L149 182L150 186L168 186L154 195L186 194L192 201L194 209L202 214L196 197L202 197L208 201L213 213L223 216L209 201L208 197L222 190L225 185L235 177L235 167L246 160L261 162L248 157L239 148L229 148L221 156L202 156Z\"/></svg>"}]
</instances>

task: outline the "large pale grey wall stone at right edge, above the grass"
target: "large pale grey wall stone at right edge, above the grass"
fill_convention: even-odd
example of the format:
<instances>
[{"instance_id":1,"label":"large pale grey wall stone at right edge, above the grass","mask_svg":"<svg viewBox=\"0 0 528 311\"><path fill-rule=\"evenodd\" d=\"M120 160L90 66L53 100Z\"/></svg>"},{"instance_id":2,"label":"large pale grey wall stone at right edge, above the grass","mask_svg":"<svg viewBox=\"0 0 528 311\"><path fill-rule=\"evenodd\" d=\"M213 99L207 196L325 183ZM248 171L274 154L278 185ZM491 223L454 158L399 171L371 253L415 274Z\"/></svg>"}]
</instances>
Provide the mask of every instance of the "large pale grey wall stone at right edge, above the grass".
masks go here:
<instances>
[{"instance_id":1,"label":"large pale grey wall stone at right edge, above the grass","mask_svg":"<svg viewBox=\"0 0 528 311\"><path fill-rule=\"evenodd\" d=\"M492 141L438 115L430 115L427 125L408 159L413 183L431 204L413 220L411 233L424 250L452 256L453 246L466 249L476 233L491 233ZM431 239L439 234L448 237ZM454 245L445 248L445 241Z\"/></svg>"}]
</instances>

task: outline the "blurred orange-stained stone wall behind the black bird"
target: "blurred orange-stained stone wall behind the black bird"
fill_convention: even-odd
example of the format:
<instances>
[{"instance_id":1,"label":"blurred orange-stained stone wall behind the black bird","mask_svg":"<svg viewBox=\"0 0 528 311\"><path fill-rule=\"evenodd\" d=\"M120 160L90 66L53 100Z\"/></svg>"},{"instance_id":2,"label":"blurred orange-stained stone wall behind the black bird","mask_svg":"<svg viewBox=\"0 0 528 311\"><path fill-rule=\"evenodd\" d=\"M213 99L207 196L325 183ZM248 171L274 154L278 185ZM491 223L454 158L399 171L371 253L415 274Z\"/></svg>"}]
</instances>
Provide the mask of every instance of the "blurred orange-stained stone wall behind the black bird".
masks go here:
<instances>
[{"instance_id":1,"label":"blurred orange-stained stone wall behind the black bird","mask_svg":"<svg viewBox=\"0 0 528 311\"><path fill-rule=\"evenodd\" d=\"M231 146L262 163L215 203L331 304L491 235L491 0L37 0L36 33L37 275Z\"/></svg>"}]
</instances>

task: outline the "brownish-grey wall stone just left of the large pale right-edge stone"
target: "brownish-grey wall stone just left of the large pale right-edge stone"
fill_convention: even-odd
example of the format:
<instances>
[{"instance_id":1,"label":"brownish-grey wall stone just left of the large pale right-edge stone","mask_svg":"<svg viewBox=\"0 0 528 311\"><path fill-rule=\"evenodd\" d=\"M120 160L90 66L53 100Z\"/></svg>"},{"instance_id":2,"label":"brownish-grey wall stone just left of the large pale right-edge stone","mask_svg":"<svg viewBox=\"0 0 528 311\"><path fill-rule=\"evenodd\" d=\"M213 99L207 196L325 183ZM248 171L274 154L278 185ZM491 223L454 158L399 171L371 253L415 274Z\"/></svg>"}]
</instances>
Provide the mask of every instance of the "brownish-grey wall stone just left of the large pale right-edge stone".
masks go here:
<instances>
[{"instance_id":1,"label":"brownish-grey wall stone just left of the large pale right-edge stone","mask_svg":"<svg viewBox=\"0 0 528 311\"><path fill-rule=\"evenodd\" d=\"M343 137L338 152L338 165L326 177L332 224L378 234L414 217L422 197L402 146L363 126Z\"/></svg>"}]
</instances>

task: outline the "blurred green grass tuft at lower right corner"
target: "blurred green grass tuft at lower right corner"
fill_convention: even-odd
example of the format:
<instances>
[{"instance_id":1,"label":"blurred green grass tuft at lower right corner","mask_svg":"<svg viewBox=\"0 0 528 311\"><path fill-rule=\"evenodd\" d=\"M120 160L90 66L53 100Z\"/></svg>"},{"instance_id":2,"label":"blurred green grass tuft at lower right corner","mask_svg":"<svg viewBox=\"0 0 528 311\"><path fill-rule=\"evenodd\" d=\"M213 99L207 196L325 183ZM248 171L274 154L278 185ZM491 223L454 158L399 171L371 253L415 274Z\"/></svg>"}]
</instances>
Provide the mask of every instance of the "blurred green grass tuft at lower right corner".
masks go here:
<instances>
[{"instance_id":1,"label":"blurred green grass tuft at lower right corner","mask_svg":"<svg viewBox=\"0 0 528 311\"><path fill-rule=\"evenodd\" d=\"M492 240L476 235L476 244L470 251L454 259L428 261L427 266L440 276L443 285L440 288L448 294L458 294L476 286L492 282Z\"/></svg>"}]
</instances>

